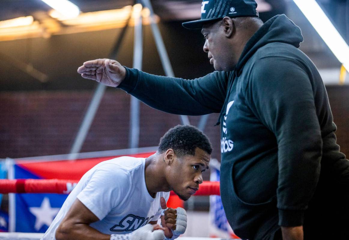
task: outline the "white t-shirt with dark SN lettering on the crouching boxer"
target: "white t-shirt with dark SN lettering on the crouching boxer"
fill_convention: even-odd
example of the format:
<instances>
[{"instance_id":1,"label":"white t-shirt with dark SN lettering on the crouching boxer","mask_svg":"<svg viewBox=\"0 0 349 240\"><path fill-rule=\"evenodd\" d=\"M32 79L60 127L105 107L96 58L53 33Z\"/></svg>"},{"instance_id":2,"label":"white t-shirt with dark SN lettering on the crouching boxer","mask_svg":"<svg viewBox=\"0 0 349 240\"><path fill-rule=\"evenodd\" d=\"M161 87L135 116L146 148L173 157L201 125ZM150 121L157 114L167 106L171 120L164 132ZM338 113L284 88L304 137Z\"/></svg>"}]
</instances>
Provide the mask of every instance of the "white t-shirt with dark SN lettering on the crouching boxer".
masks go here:
<instances>
[{"instance_id":1,"label":"white t-shirt with dark SN lettering on the crouching boxer","mask_svg":"<svg viewBox=\"0 0 349 240\"><path fill-rule=\"evenodd\" d=\"M41 240L55 240L55 231L76 198L99 218L90 226L104 234L125 234L157 221L160 197L167 201L170 193L151 197L144 170L145 158L119 157L97 164L77 183Z\"/></svg>"}]
</instances>

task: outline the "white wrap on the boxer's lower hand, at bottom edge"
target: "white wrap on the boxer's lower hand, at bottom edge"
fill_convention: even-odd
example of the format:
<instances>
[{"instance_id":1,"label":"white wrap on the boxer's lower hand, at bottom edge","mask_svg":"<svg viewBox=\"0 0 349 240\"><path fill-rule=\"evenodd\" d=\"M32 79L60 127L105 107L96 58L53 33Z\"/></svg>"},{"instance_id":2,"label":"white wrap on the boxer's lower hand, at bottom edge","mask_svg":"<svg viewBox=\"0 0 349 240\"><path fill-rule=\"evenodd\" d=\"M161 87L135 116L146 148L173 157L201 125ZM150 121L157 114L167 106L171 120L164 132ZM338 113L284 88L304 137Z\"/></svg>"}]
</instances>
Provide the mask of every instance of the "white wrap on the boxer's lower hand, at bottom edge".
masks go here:
<instances>
[{"instance_id":1,"label":"white wrap on the boxer's lower hand, at bottom edge","mask_svg":"<svg viewBox=\"0 0 349 240\"><path fill-rule=\"evenodd\" d=\"M126 234L112 234L110 240L163 240L164 231L153 231L153 225L147 224L137 230Z\"/></svg>"}]
</instances>

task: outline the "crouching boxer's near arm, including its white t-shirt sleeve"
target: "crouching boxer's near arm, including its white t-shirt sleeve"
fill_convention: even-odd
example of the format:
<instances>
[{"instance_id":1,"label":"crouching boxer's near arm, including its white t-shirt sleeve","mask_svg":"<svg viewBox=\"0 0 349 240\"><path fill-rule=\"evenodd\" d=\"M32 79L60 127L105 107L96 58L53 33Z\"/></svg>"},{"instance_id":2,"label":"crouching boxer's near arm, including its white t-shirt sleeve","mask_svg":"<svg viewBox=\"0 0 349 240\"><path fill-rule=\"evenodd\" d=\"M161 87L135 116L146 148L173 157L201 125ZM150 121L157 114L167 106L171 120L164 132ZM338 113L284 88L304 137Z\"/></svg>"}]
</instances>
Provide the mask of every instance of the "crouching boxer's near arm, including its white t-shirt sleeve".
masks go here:
<instances>
[{"instance_id":1,"label":"crouching boxer's near arm, including its white t-shirt sleeve","mask_svg":"<svg viewBox=\"0 0 349 240\"><path fill-rule=\"evenodd\" d=\"M110 179L118 181L110 184ZM56 230L56 239L110 239L90 227L89 224L103 219L127 197L131 179L127 172L114 164L103 164L94 171L86 186L76 196L65 218Z\"/></svg>"}]
</instances>

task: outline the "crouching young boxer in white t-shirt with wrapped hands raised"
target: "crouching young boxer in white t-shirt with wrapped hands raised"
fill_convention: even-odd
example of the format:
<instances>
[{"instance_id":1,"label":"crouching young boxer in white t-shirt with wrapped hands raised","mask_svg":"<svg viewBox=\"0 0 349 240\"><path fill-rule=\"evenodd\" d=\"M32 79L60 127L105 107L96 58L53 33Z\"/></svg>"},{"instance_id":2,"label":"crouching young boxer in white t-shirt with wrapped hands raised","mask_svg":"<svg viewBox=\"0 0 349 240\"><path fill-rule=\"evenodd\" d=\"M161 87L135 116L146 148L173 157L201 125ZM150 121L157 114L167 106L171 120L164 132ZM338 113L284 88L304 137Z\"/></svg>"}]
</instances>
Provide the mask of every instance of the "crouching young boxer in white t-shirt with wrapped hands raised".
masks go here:
<instances>
[{"instance_id":1,"label":"crouching young boxer in white t-shirt with wrapped hands raised","mask_svg":"<svg viewBox=\"0 0 349 240\"><path fill-rule=\"evenodd\" d=\"M212 147L193 126L178 125L148 158L97 164L68 195L42 240L173 240L183 234L183 208L167 208L173 190L188 200L202 183ZM163 227L156 224L161 217ZM153 231L155 230L155 231Z\"/></svg>"}]
</instances>

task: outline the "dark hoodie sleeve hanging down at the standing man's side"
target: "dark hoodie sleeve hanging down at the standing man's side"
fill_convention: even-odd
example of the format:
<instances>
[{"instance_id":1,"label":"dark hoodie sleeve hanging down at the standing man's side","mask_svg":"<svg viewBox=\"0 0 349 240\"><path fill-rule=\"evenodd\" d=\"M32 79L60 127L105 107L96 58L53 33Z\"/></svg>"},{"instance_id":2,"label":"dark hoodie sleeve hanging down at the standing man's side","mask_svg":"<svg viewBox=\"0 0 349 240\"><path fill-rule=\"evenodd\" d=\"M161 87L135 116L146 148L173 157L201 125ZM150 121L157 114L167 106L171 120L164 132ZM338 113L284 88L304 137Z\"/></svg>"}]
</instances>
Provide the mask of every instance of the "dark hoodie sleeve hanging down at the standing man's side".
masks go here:
<instances>
[{"instance_id":1,"label":"dark hoodie sleeve hanging down at the standing man's side","mask_svg":"<svg viewBox=\"0 0 349 240\"><path fill-rule=\"evenodd\" d=\"M247 104L277 140L279 225L303 225L322 154L310 78L296 60L266 57L254 63L246 86Z\"/></svg>"}]
</instances>

